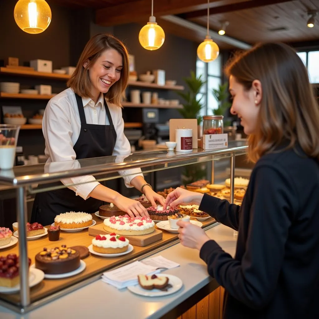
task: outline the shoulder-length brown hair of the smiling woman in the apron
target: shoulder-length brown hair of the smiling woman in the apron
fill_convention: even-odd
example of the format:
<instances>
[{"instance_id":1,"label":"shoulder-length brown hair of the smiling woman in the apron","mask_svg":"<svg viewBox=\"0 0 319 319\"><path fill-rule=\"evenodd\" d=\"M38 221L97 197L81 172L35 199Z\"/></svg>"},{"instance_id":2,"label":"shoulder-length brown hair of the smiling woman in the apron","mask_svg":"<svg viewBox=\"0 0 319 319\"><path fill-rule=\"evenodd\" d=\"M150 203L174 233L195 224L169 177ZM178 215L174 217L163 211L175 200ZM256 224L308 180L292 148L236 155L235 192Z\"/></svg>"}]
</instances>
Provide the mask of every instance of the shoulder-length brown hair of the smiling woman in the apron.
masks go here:
<instances>
[{"instance_id":1,"label":"shoulder-length brown hair of the smiling woman in the apron","mask_svg":"<svg viewBox=\"0 0 319 319\"><path fill-rule=\"evenodd\" d=\"M103 33L97 34L86 43L75 71L67 85L79 96L92 98L90 92L91 81L89 77L89 67L94 64L102 52L107 49L115 49L121 54L123 59L123 68L121 70L120 79L110 87L108 93L105 94L105 97L110 103L121 106L121 100L122 97L125 98L125 89L128 85L130 75L129 54L125 45L113 35ZM83 64L87 60L89 60L89 63L85 68Z\"/></svg>"}]
</instances>

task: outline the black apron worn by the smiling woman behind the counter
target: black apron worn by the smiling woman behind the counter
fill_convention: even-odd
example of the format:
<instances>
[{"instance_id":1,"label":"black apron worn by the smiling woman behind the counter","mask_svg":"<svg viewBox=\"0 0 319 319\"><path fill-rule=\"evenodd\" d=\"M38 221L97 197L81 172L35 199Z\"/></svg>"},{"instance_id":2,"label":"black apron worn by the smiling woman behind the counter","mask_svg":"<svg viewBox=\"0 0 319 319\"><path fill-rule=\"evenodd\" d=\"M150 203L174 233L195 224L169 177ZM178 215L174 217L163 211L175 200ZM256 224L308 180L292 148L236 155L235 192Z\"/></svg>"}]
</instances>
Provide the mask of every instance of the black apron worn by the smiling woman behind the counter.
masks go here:
<instances>
[{"instance_id":1,"label":"black apron worn by the smiling woman behind the counter","mask_svg":"<svg viewBox=\"0 0 319 319\"><path fill-rule=\"evenodd\" d=\"M81 130L77 142L73 146L76 159L86 159L101 156L110 156L116 141L116 131L113 125L110 110L104 100L105 111L110 125L87 124L85 119L82 98L75 94L81 120ZM62 185L58 182L58 185ZM39 185L39 188L48 187L48 184ZM31 222L42 225L52 224L56 215L68 211L83 211L94 213L103 205L103 201L89 197L84 200L75 195L69 188L50 190L35 195Z\"/></svg>"}]
</instances>

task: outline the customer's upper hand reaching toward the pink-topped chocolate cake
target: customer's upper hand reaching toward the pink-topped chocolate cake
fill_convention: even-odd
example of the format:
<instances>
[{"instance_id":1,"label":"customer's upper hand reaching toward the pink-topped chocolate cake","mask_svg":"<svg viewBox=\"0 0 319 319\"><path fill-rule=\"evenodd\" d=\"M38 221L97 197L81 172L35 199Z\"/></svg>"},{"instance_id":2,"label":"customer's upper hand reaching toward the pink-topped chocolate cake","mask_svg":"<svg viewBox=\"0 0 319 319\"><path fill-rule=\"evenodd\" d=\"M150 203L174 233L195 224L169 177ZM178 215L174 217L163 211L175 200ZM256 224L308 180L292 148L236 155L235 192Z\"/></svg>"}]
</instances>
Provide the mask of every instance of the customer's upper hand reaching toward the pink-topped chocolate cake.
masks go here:
<instances>
[{"instance_id":1,"label":"customer's upper hand reaching toward the pink-topped chocolate cake","mask_svg":"<svg viewBox=\"0 0 319 319\"><path fill-rule=\"evenodd\" d=\"M199 205L203 196L204 195L201 193L191 192L187 189L177 187L174 191L167 195L164 209L166 209L167 206L175 208L181 204Z\"/></svg>"}]
</instances>

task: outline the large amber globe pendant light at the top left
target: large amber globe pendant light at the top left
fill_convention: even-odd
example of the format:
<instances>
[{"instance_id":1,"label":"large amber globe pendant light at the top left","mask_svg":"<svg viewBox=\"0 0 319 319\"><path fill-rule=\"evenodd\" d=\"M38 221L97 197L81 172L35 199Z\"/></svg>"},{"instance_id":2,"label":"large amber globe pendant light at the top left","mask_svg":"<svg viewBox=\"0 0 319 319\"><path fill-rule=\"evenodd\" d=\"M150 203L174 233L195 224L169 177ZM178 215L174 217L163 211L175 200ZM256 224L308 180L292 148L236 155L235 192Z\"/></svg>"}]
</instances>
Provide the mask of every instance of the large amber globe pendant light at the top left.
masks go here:
<instances>
[{"instance_id":1,"label":"large amber globe pendant light at the top left","mask_svg":"<svg viewBox=\"0 0 319 319\"><path fill-rule=\"evenodd\" d=\"M19 0L13 11L14 19L26 33L41 33L51 22L51 9L44 0Z\"/></svg>"}]
</instances>

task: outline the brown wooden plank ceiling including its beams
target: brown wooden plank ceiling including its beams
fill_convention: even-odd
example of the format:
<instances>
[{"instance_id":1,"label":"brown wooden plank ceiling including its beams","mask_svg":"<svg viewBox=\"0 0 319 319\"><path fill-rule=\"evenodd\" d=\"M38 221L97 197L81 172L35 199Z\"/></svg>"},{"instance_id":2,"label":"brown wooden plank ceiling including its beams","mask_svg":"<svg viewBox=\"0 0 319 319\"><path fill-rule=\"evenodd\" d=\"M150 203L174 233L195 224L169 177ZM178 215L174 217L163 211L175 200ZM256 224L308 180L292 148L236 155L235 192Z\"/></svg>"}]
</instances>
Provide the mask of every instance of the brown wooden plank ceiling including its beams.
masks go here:
<instances>
[{"instance_id":1,"label":"brown wooden plank ceiling including its beams","mask_svg":"<svg viewBox=\"0 0 319 319\"><path fill-rule=\"evenodd\" d=\"M74 8L95 9L101 26L137 22L145 24L151 12L151 0L55 0ZM307 11L318 11L315 26L307 27ZM168 33L201 42L204 31L189 31L160 19L177 15L206 27L207 0L154 0L154 15ZM210 29L218 31L228 21L226 35L246 43L259 41L319 40L319 0L210 0ZM204 29L203 29L204 30ZM216 41L221 48L230 48Z\"/></svg>"}]
</instances>

